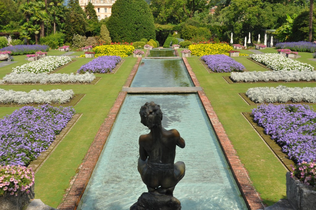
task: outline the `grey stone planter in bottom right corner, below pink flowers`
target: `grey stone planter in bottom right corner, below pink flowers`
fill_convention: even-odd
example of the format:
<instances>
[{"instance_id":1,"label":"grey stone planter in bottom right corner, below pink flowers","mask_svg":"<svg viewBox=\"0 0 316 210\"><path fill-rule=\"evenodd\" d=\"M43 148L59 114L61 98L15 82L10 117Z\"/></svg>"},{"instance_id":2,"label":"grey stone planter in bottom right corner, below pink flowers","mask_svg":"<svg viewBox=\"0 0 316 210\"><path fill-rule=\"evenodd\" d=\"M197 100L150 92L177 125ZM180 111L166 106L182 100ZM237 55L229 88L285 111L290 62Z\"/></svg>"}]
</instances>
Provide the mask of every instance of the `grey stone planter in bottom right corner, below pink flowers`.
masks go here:
<instances>
[{"instance_id":1,"label":"grey stone planter in bottom right corner, below pink flowers","mask_svg":"<svg viewBox=\"0 0 316 210\"><path fill-rule=\"evenodd\" d=\"M295 209L315 209L316 191L314 189L292 178L290 172L286 173L286 196Z\"/></svg>"}]
</instances>

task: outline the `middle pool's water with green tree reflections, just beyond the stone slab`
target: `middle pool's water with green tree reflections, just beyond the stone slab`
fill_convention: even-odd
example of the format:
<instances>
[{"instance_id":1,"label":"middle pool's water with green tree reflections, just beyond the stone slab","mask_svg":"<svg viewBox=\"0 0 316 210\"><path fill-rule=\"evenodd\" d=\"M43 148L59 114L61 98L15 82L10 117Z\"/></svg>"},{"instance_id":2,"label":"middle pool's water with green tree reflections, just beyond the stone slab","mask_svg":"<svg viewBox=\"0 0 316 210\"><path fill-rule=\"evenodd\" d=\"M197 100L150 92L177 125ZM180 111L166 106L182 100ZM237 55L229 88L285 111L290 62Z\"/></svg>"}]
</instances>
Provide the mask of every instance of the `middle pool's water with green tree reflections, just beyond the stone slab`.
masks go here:
<instances>
[{"instance_id":1,"label":"middle pool's water with green tree reflections, just beyond the stone slab","mask_svg":"<svg viewBox=\"0 0 316 210\"><path fill-rule=\"evenodd\" d=\"M131 87L192 87L182 59L142 59Z\"/></svg>"}]
</instances>

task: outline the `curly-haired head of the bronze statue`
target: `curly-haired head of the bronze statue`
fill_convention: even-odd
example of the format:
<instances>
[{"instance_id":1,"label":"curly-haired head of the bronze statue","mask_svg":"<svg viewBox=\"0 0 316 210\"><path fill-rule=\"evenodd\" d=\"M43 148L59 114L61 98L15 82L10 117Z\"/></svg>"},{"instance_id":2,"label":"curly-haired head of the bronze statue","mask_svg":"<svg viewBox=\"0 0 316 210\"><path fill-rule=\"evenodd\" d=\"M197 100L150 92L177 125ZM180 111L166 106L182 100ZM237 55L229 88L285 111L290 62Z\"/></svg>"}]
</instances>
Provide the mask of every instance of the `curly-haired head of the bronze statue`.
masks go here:
<instances>
[{"instance_id":1,"label":"curly-haired head of the bronze statue","mask_svg":"<svg viewBox=\"0 0 316 210\"><path fill-rule=\"evenodd\" d=\"M139 111L141 123L148 128L161 125L162 112L160 106L155 104L155 102L146 102L144 106L140 108Z\"/></svg>"}]
</instances>

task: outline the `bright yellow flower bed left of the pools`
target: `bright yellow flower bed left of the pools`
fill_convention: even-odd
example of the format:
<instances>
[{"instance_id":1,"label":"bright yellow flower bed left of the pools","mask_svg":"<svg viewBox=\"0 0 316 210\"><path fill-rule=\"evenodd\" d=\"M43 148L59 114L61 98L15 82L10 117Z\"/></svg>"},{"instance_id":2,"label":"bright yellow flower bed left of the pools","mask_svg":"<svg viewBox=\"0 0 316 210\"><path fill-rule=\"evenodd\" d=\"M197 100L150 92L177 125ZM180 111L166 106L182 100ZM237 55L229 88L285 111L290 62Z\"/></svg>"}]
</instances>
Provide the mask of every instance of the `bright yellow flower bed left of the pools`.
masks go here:
<instances>
[{"instance_id":1,"label":"bright yellow flower bed left of the pools","mask_svg":"<svg viewBox=\"0 0 316 210\"><path fill-rule=\"evenodd\" d=\"M127 57L131 55L134 51L134 46L132 45L100 45L94 47L92 50L95 52L95 57L100 57L103 55L116 55L121 57Z\"/></svg>"}]
</instances>

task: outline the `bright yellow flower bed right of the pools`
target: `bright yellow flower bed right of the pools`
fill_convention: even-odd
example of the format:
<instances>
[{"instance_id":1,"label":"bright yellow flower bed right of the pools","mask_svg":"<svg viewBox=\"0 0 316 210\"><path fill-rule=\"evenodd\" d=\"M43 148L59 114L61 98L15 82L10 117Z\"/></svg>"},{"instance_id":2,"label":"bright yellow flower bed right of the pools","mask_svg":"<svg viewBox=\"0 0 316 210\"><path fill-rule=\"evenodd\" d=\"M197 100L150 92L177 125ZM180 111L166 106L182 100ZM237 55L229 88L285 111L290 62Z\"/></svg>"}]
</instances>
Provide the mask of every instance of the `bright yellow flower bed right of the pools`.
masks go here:
<instances>
[{"instance_id":1,"label":"bright yellow flower bed right of the pools","mask_svg":"<svg viewBox=\"0 0 316 210\"><path fill-rule=\"evenodd\" d=\"M191 55L196 55L196 56L216 55L216 54L224 54L224 55L229 56L228 51L233 50L233 47L224 43L197 44L197 45L190 45L189 50L191 50Z\"/></svg>"}]
</instances>

